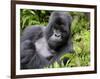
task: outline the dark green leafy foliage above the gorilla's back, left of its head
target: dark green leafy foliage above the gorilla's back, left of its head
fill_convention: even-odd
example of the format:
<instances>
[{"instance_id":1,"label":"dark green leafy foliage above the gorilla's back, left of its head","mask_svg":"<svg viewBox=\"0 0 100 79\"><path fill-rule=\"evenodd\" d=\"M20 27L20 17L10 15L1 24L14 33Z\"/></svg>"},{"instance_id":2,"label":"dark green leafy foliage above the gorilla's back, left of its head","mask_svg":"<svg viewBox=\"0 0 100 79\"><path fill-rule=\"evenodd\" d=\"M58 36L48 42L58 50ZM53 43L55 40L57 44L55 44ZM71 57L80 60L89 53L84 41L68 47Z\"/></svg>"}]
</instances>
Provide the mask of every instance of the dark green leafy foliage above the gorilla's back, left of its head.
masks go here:
<instances>
[{"instance_id":1,"label":"dark green leafy foliage above the gorilla's back, left of its head","mask_svg":"<svg viewBox=\"0 0 100 79\"><path fill-rule=\"evenodd\" d=\"M50 11L21 9L20 15L21 30L24 30L30 25L47 25Z\"/></svg>"}]
</instances>

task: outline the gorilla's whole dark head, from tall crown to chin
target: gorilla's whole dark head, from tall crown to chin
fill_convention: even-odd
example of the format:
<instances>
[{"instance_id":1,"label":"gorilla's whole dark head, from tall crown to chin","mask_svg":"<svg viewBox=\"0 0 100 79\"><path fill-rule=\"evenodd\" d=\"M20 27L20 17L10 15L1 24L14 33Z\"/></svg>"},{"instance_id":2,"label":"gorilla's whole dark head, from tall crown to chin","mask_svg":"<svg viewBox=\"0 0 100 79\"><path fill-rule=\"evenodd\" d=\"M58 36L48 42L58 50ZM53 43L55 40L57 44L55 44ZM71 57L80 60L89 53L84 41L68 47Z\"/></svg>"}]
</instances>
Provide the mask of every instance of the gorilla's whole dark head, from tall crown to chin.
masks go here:
<instances>
[{"instance_id":1,"label":"gorilla's whole dark head, from tall crown to chin","mask_svg":"<svg viewBox=\"0 0 100 79\"><path fill-rule=\"evenodd\" d=\"M67 12L53 12L47 27L50 48L58 50L67 43L71 34L71 16Z\"/></svg>"}]
</instances>

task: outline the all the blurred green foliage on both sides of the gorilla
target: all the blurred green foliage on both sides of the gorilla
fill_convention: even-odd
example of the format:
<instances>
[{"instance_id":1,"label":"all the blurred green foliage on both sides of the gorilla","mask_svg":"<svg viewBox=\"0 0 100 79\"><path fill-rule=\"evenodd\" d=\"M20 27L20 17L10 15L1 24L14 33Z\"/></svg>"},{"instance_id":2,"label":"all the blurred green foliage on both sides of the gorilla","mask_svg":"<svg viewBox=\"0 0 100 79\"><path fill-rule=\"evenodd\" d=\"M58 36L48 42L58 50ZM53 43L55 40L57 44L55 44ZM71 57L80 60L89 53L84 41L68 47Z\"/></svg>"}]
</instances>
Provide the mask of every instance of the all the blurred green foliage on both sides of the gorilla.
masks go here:
<instances>
[{"instance_id":1,"label":"all the blurred green foliage on both sides of the gorilla","mask_svg":"<svg viewBox=\"0 0 100 79\"><path fill-rule=\"evenodd\" d=\"M30 25L47 26L49 16L52 11L20 9L20 31L22 32ZM86 12L69 12L72 16L72 41L74 53L63 55L60 60L61 64L54 62L47 68L61 67L80 67L90 65L90 13ZM66 65L63 59L67 58Z\"/></svg>"}]
</instances>

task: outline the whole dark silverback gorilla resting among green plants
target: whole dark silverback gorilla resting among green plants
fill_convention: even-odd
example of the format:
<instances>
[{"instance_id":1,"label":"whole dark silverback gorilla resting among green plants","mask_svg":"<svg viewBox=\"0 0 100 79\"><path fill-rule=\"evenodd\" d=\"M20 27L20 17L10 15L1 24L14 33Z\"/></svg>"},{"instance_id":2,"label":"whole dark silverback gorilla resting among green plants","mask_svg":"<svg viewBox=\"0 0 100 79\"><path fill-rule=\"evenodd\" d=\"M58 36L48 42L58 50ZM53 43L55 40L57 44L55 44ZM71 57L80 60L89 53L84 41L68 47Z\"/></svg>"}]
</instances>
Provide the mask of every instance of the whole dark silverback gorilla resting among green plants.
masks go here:
<instances>
[{"instance_id":1,"label":"whole dark silverback gorilla resting among green plants","mask_svg":"<svg viewBox=\"0 0 100 79\"><path fill-rule=\"evenodd\" d=\"M65 54L72 52L72 18L67 12L52 12L47 27L27 27L20 41L21 69L49 66Z\"/></svg>"}]
</instances>

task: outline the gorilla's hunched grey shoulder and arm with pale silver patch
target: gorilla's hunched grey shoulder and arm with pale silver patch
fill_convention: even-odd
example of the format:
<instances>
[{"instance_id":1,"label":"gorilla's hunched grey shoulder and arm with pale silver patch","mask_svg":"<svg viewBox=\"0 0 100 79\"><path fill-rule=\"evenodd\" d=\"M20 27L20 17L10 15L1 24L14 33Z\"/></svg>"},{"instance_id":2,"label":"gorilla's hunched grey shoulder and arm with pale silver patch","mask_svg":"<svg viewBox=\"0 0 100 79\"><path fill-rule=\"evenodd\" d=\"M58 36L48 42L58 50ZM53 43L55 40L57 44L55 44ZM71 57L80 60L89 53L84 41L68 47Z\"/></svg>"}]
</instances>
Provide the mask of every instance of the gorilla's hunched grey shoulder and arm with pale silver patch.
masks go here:
<instances>
[{"instance_id":1,"label":"gorilla's hunched grey shoulder and arm with pale silver patch","mask_svg":"<svg viewBox=\"0 0 100 79\"><path fill-rule=\"evenodd\" d=\"M27 27L21 36L21 69L43 68L52 57L41 27Z\"/></svg>"}]
</instances>

